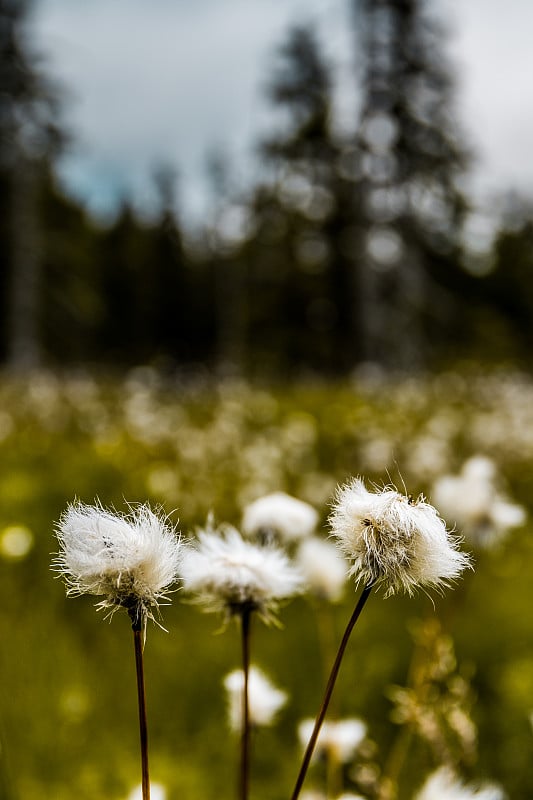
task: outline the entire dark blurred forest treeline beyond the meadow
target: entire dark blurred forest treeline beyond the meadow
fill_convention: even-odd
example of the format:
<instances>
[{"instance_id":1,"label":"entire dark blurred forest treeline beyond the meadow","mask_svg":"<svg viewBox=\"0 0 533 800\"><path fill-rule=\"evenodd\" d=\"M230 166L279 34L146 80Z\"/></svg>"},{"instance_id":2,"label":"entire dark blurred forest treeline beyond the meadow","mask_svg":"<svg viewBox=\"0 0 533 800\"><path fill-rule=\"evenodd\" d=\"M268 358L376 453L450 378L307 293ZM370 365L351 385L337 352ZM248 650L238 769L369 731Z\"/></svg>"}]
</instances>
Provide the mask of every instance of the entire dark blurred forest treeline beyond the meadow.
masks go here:
<instances>
[{"instance_id":1,"label":"entire dark blurred forest treeline beyond the meadow","mask_svg":"<svg viewBox=\"0 0 533 800\"><path fill-rule=\"evenodd\" d=\"M259 144L262 177L238 192L213 161L214 211L190 231L170 169L154 176L150 221L125 200L102 225L60 189L61 98L28 44L28 3L0 0L3 364L253 376L529 366L533 211L522 203L502 223L480 269L465 244L471 154L445 31L424 0L351 2L352 130L336 119L316 31L291 29L268 80L281 122Z\"/></svg>"}]
</instances>

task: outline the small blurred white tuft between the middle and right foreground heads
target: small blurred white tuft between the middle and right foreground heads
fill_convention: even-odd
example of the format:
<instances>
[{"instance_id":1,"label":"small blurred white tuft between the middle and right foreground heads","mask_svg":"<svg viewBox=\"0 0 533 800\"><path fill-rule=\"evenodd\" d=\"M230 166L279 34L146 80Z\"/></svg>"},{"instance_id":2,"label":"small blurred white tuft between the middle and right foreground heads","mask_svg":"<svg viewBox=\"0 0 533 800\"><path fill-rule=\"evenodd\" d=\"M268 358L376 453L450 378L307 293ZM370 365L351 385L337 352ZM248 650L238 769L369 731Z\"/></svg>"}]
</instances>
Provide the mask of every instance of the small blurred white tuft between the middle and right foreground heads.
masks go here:
<instances>
[{"instance_id":1,"label":"small blurred white tuft between the middle and right foreground heads","mask_svg":"<svg viewBox=\"0 0 533 800\"><path fill-rule=\"evenodd\" d=\"M332 542L317 536L305 539L298 548L296 563L317 597L331 602L340 600L348 565Z\"/></svg>"}]
</instances>

